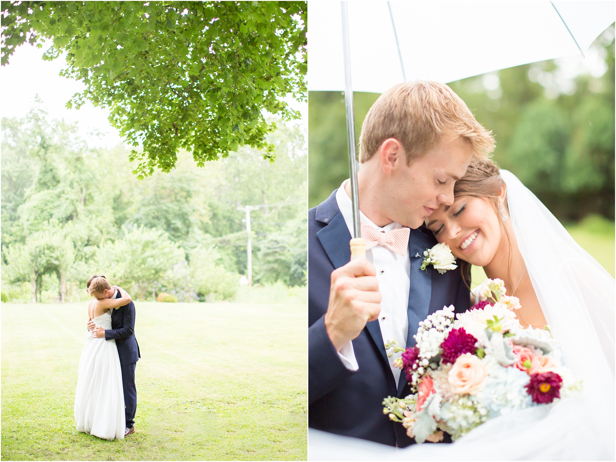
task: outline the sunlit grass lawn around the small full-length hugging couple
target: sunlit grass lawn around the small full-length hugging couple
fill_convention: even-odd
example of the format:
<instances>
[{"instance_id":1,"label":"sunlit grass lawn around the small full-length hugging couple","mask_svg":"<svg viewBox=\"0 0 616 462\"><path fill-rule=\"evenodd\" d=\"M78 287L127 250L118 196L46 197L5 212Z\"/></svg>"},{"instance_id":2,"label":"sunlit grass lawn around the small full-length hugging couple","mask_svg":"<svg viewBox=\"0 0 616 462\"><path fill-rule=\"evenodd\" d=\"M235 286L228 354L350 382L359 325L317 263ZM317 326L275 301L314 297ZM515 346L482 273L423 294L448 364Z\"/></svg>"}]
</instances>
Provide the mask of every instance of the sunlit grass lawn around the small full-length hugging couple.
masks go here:
<instances>
[{"instance_id":1,"label":"sunlit grass lawn around the small full-length hugging couple","mask_svg":"<svg viewBox=\"0 0 616 462\"><path fill-rule=\"evenodd\" d=\"M137 302L136 432L75 430L86 304L2 303L2 460L306 460L306 304Z\"/></svg>"}]
</instances>

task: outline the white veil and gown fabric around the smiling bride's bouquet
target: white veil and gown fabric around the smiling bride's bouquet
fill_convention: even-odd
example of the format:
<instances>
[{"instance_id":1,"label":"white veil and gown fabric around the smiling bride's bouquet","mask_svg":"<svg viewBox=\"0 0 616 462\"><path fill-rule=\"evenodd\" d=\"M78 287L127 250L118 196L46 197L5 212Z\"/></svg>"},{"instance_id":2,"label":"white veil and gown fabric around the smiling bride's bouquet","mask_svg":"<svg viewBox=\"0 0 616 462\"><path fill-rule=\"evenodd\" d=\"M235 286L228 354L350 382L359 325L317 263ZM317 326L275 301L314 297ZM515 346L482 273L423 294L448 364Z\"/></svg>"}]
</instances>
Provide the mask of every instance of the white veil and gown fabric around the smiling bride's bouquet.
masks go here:
<instances>
[{"instance_id":1,"label":"white veil and gown fabric around the smiling bride's bouquet","mask_svg":"<svg viewBox=\"0 0 616 462\"><path fill-rule=\"evenodd\" d=\"M614 278L516 176L501 177L541 309L583 391L494 418L453 444L397 449L310 429L309 460L614 460Z\"/></svg>"}]
</instances>

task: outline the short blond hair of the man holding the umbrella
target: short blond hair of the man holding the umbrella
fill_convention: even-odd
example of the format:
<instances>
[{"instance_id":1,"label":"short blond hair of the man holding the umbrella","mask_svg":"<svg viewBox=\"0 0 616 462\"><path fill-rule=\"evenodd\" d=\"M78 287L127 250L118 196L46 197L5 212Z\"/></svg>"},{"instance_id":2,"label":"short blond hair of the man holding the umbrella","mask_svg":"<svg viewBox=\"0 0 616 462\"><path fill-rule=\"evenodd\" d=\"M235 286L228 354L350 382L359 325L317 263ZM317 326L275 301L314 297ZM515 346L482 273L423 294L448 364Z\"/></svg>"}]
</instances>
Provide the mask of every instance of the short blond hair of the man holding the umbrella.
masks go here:
<instances>
[{"instance_id":1,"label":"short blond hair of the man holding the umbrella","mask_svg":"<svg viewBox=\"0 0 616 462\"><path fill-rule=\"evenodd\" d=\"M494 150L492 132L472 115L450 87L433 81L401 83L384 92L368 111L359 139L360 163L370 160L386 139L397 139L407 165L443 140L462 137L475 159Z\"/></svg>"}]
</instances>

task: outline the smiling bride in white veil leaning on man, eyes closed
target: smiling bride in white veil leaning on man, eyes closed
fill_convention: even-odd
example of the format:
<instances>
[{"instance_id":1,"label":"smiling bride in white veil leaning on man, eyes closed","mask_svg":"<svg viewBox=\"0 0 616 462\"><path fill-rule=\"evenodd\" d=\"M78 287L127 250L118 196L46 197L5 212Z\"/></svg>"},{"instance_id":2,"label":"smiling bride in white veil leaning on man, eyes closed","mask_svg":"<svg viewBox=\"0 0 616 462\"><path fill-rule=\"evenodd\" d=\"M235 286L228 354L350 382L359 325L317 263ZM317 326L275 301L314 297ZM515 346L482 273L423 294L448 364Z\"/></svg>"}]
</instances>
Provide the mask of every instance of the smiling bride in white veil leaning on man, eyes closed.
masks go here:
<instances>
[{"instance_id":1,"label":"smiling bride in white veil leaning on man, eyes closed","mask_svg":"<svg viewBox=\"0 0 616 462\"><path fill-rule=\"evenodd\" d=\"M309 460L614 460L614 278L492 161L471 164L454 193L426 225L463 270L470 262L505 281L522 325L550 326L583 391L489 420L453 444L397 449L310 429Z\"/></svg>"}]
</instances>

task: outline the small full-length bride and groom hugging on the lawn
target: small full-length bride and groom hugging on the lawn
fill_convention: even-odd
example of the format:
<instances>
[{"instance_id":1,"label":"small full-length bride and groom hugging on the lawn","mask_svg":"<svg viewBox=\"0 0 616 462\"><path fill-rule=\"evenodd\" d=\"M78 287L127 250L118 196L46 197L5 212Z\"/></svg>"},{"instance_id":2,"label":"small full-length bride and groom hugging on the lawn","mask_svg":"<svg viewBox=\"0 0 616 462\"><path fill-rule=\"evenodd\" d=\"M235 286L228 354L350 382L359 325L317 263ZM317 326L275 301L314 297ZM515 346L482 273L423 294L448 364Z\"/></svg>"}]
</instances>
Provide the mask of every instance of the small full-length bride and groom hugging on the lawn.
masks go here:
<instances>
[{"instance_id":1,"label":"small full-length bride and groom hugging on the lawn","mask_svg":"<svg viewBox=\"0 0 616 462\"><path fill-rule=\"evenodd\" d=\"M92 276L86 286L94 299L87 307L87 341L79 359L77 431L123 439L135 431L137 410L135 368L140 354L134 334L135 304L105 276Z\"/></svg>"}]
</instances>

